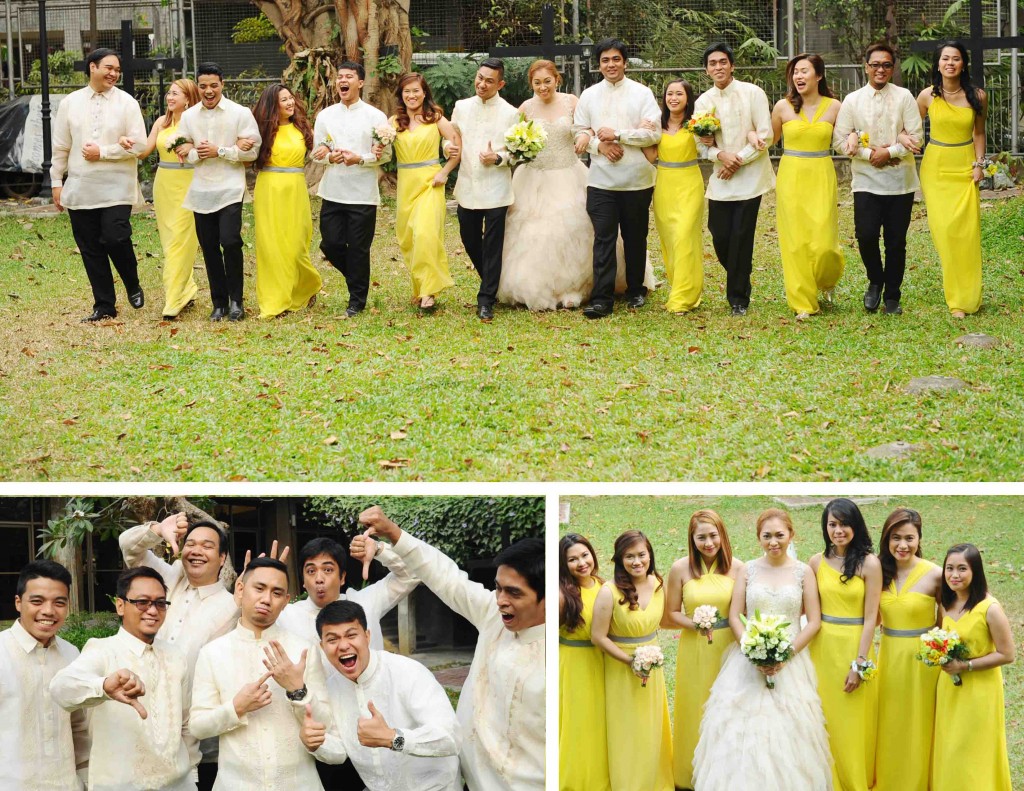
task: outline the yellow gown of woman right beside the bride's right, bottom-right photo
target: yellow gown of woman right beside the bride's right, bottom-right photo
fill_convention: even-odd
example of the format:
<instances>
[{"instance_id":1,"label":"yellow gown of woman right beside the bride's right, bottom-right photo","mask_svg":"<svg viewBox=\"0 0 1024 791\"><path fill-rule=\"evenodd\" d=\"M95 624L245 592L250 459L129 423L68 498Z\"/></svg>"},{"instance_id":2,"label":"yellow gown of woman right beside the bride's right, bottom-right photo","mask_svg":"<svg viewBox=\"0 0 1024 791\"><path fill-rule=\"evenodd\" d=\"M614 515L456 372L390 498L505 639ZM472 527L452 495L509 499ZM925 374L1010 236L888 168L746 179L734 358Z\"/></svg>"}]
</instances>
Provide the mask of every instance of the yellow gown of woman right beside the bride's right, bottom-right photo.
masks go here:
<instances>
[{"instance_id":1,"label":"yellow gown of woman right beside the bride's right, bottom-right photo","mask_svg":"<svg viewBox=\"0 0 1024 791\"><path fill-rule=\"evenodd\" d=\"M878 679L861 682L852 693L843 691L850 663L860 653L864 581L853 577L841 582L840 573L823 557L816 579L821 596L821 631L811 640L810 650L835 761L833 787L834 791L867 791L874 781ZM848 619L850 623L829 623L827 618ZM880 673L884 671L879 669Z\"/></svg>"}]
</instances>

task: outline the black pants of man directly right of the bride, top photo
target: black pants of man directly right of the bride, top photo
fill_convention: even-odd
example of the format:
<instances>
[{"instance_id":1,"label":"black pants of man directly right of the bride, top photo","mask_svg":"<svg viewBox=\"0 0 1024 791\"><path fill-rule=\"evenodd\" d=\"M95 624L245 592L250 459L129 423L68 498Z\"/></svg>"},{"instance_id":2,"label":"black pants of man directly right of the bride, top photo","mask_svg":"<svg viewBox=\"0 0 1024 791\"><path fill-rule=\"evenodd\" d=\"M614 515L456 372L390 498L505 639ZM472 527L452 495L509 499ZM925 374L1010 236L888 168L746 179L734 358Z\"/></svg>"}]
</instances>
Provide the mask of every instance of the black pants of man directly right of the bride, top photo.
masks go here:
<instances>
[{"instance_id":1,"label":"black pants of man directly right of the bride, top photo","mask_svg":"<svg viewBox=\"0 0 1024 791\"><path fill-rule=\"evenodd\" d=\"M592 305L610 306L615 298L615 243L623 235L626 252L626 297L643 296L647 266L647 226L654 188L602 190L587 188L587 213L594 225L594 290Z\"/></svg>"}]
</instances>

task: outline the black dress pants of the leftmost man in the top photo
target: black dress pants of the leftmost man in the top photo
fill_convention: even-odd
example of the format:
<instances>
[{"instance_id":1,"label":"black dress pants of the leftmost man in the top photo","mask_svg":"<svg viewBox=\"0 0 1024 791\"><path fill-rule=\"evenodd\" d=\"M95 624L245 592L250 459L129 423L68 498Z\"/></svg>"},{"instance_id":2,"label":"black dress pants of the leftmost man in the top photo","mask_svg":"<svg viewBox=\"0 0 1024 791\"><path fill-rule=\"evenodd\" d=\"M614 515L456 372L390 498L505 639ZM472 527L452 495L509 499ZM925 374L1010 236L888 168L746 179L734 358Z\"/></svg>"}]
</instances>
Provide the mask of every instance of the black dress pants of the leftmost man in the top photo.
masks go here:
<instances>
[{"instance_id":1,"label":"black dress pants of the leftmost man in the top photo","mask_svg":"<svg viewBox=\"0 0 1024 791\"><path fill-rule=\"evenodd\" d=\"M75 244L82 253L85 274L92 286L92 308L117 314L117 293L111 264L117 269L125 291L138 291L138 260L131 244L131 206L101 209L68 209Z\"/></svg>"}]
</instances>

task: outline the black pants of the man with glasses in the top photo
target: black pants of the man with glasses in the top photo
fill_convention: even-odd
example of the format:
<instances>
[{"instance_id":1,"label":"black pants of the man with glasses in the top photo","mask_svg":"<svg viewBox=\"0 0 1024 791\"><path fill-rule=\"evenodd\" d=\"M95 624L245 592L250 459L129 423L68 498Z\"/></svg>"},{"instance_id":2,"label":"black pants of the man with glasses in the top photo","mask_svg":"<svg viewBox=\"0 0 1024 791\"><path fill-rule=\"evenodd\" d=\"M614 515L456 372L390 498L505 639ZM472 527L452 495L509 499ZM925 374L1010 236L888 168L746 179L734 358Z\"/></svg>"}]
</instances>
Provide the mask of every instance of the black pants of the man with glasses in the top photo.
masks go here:
<instances>
[{"instance_id":1,"label":"black pants of the man with glasses in the top photo","mask_svg":"<svg viewBox=\"0 0 1024 791\"><path fill-rule=\"evenodd\" d=\"M885 299L900 299L903 274L906 272L906 232L913 213L913 193L905 195L853 194L853 224L857 247L864 261L867 282L883 286ZM886 261L882 263L879 237L886 242Z\"/></svg>"}]
</instances>

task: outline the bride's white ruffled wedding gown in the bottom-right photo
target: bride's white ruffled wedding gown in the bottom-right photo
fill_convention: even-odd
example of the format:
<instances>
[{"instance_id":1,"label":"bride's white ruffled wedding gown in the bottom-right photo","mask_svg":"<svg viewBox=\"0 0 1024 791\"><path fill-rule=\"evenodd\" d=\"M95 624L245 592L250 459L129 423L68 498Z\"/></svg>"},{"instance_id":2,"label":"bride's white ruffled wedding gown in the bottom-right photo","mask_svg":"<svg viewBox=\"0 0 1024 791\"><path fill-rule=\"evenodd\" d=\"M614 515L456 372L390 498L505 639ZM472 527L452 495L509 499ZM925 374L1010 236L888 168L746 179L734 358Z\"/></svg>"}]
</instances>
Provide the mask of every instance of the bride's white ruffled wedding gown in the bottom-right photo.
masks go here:
<instances>
[{"instance_id":1,"label":"bride's white ruffled wedding gown in the bottom-right photo","mask_svg":"<svg viewBox=\"0 0 1024 791\"><path fill-rule=\"evenodd\" d=\"M746 565L746 613L784 616L791 637L800 631L804 575L797 563L793 584L758 582L765 561ZM693 754L696 791L829 791L831 753L817 676L807 650L783 665L769 690L765 677L731 646L705 705Z\"/></svg>"}]
</instances>

